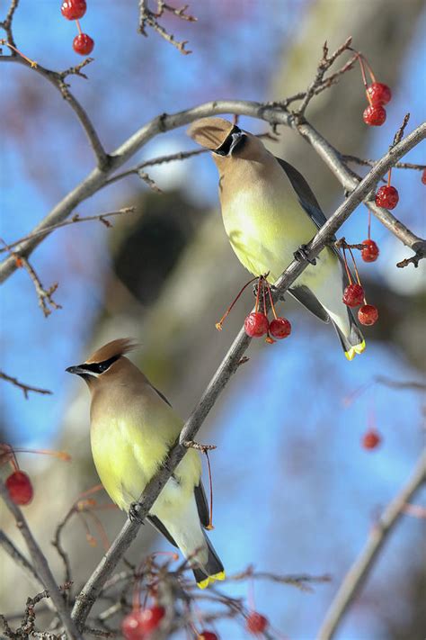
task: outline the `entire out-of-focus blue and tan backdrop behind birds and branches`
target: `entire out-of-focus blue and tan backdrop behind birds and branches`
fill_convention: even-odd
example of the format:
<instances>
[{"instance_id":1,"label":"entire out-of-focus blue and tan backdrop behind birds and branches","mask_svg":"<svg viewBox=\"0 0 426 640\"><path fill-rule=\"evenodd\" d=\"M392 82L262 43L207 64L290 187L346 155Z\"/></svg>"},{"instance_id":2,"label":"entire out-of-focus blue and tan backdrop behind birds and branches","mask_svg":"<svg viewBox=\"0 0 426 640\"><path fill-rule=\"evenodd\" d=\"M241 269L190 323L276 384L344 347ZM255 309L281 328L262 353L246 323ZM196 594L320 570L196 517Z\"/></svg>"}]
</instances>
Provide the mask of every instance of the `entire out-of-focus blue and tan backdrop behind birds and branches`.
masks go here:
<instances>
[{"instance_id":1,"label":"entire out-of-focus blue and tan backdrop behind birds and branches","mask_svg":"<svg viewBox=\"0 0 426 640\"><path fill-rule=\"evenodd\" d=\"M304 89L324 41L332 49L349 35L377 78L392 86L395 98L386 125L372 131L363 124L365 96L355 68L311 103L306 117L315 128L342 153L376 158L386 151L404 113L411 113L409 128L424 115L421 0L194 2L190 13L197 23L173 17L164 22L179 40L190 41L192 53L186 57L154 32L147 39L138 35L137 5L88 0L82 26L95 41L94 61L85 69L88 81L70 80L108 150L158 113L217 98L278 100ZM27 55L59 70L80 59L71 48L73 24L62 19L58 6L53 0L22 2L14 34ZM6 7L2 3L2 14ZM13 241L84 178L93 157L74 114L42 78L4 64L0 83L1 237ZM267 131L263 122L242 118L240 123L250 131ZM324 212L333 212L342 202L334 176L294 132L280 128L278 133L271 150L295 164ZM173 131L152 140L131 164L185 149L191 149L191 141L184 131ZM424 147L406 159L424 162ZM2 367L54 392L25 401L19 390L3 383L2 439L15 446L66 448L73 456L71 464L20 456L36 489L26 513L58 575L61 565L49 540L78 494L98 482L89 446L88 394L65 368L109 339L132 336L141 345L135 361L184 418L253 302L245 293L217 333L215 322L248 276L226 240L211 159L202 155L148 169L148 174L162 194L131 176L78 207L80 215L129 204L137 212L114 222L111 230L96 222L58 230L34 253L42 282L59 283L56 299L62 310L45 320L21 271L2 287ZM420 175L395 171L393 176L401 194L396 216L424 236ZM365 207L352 215L342 235L353 242L367 236ZM362 266L362 277L380 320L366 330L365 355L347 363L333 330L288 300L291 338L272 347L252 345L250 362L227 386L200 432L201 441L218 445L211 455L213 539L227 571L253 563L271 572L333 576L313 594L266 583L256 588L257 608L294 640L315 636L379 509L410 473L424 439L419 393L375 382L381 374L422 380L424 264L396 269L408 250L376 221L372 237L380 258ZM366 391L354 396L363 385ZM383 445L367 452L360 438L371 423ZM106 496L99 500L108 502ZM115 510L99 515L112 538L123 515ZM7 518L4 524L16 537ZM67 527L65 540L80 584L101 558L102 544L88 545L79 522ZM422 543L422 522L404 517L339 638L421 640L426 628ZM129 557L137 560L159 548L168 545L143 527ZM19 609L32 588L4 554L0 562L6 585L1 608ZM13 592L7 588L11 580ZM242 584L224 589L245 593ZM233 640L244 637L244 629L230 623L218 630Z\"/></svg>"}]
</instances>

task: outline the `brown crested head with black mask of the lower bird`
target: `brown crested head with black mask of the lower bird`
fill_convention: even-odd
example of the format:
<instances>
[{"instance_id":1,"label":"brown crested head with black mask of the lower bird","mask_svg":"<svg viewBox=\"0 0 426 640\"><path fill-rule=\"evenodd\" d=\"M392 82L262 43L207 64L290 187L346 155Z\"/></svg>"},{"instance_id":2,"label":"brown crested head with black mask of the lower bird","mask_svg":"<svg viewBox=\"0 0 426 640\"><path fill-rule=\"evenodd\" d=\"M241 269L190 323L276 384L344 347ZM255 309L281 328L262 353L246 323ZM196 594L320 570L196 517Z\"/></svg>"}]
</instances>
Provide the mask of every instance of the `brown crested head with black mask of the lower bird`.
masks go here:
<instances>
[{"instance_id":1,"label":"brown crested head with black mask of the lower bird","mask_svg":"<svg viewBox=\"0 0 426 640\"><path fill-rule=\"evenodd\" d=\"M113 374L123 363L123 356L135 347L131 338L112 340L94 351L82 365L68 366L66 371L68 374L79 375L91 387L103 376ZM124 361L127 361L126 358Z\"/></svg>"}]
</instances>

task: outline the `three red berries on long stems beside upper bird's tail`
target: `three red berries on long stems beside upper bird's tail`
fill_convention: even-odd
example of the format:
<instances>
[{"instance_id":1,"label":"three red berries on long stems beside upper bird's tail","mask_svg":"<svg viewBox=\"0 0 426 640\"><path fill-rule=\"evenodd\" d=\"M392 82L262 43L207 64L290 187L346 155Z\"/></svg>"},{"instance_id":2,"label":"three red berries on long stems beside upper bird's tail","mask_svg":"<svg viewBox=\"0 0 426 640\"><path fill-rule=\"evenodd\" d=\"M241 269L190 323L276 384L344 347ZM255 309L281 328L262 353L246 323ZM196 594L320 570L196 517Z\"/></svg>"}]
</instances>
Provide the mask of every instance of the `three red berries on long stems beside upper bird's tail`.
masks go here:
<instances>
[{"instance_id":1,"label":"three red berries on long stems beside upper bird's tail","mask_svg":"<svg viewBox=\"0 0 426 640\"><path fill-rule=\"evenodd\" d=\"M369 235L369 232L368 232L368 235ZM364 247L361 251L362 259L365 260L365 262L374 262L375 260L377 260L378 248L377 248L376 242L374 242L374 240L367 239L362 242L362 245ZM367 326L372 325L375 322L377 322L377 319L378 319L377 307L373 306L372 304L367 304L366 302L364 289L359 280L359 273L358 273L357 265L355 262L355 257L353 256L351 247L348 247L348 248L351 252L353 266L355 268L355 274L357 276L357 282L353 281L351 271L349 269L349 266L346 260L345 249L343 248L343 258L344 258L344 264L346 268L346 274L348 275L349 284L347 287L345 287L345 290L343 291L342 301L348 307L351 307L351 308L359 307L358 320L361 324L367 325Z\"/></svg>"}]
</instances>

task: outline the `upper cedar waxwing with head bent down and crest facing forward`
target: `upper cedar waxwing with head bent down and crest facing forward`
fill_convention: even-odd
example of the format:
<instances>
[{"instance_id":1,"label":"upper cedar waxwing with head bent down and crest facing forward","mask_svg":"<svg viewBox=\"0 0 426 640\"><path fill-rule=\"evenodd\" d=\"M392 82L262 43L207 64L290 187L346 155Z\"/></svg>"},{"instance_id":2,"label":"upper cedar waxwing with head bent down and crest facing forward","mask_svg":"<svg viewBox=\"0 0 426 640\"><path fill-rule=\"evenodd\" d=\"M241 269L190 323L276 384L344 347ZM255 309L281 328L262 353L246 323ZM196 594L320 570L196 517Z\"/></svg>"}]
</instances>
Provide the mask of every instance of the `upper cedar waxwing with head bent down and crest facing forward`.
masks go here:
<instances>
[{"instance_id":1,"label":"upper cedar waxwing with head bent down and crest facing forward","mask_svg":"<svg viewBox=\"0 0 426 640\"><path fill-rule=\"evenodd\" d=\"M268 281L275 282L326 221L305 178L252 133L222 118L193 122L188 135L213 152L222 217L236 256L253 275L269 273ZM288 292L320 320L332 320L351 360L365 341L342 302L343 283L342 257L327 247Z\"/></svg>"}]
</instances>

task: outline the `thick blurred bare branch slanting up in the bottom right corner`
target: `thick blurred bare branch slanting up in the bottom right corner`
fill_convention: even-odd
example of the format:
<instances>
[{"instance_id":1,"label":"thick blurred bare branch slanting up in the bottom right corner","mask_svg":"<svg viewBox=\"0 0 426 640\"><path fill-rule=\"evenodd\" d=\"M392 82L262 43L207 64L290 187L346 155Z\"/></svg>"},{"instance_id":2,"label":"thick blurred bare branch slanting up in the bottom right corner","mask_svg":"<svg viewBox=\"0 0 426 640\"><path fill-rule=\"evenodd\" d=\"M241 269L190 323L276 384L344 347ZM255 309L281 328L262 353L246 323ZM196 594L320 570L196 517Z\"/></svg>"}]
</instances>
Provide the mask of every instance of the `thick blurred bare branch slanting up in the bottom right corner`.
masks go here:
<instances>
[{"instance_id":1,"label":"thick blurred bare branch slanting up in the bottom right corner","mask_svg":"<svg viewBox=\"0 0 426 640\"><path fill-rule=\"evenodd\" d=\"M340 589L333 599L323 626L319 631L318 640L330 640L333 638L337 627L342 622L342 617L351 606L351 602L356 597L364 581L367 580L368 574L377 559L377 555L383 545L385 545L390 532L404 514L406 503L413 498L414 493L420 489L422 483L425 481L426 451L421 455L411 478L396 495L395 499L386 507L382 517L371 530L367 544L352 564L351 569L346 574Z\"/></svg>"}]
</instances>

